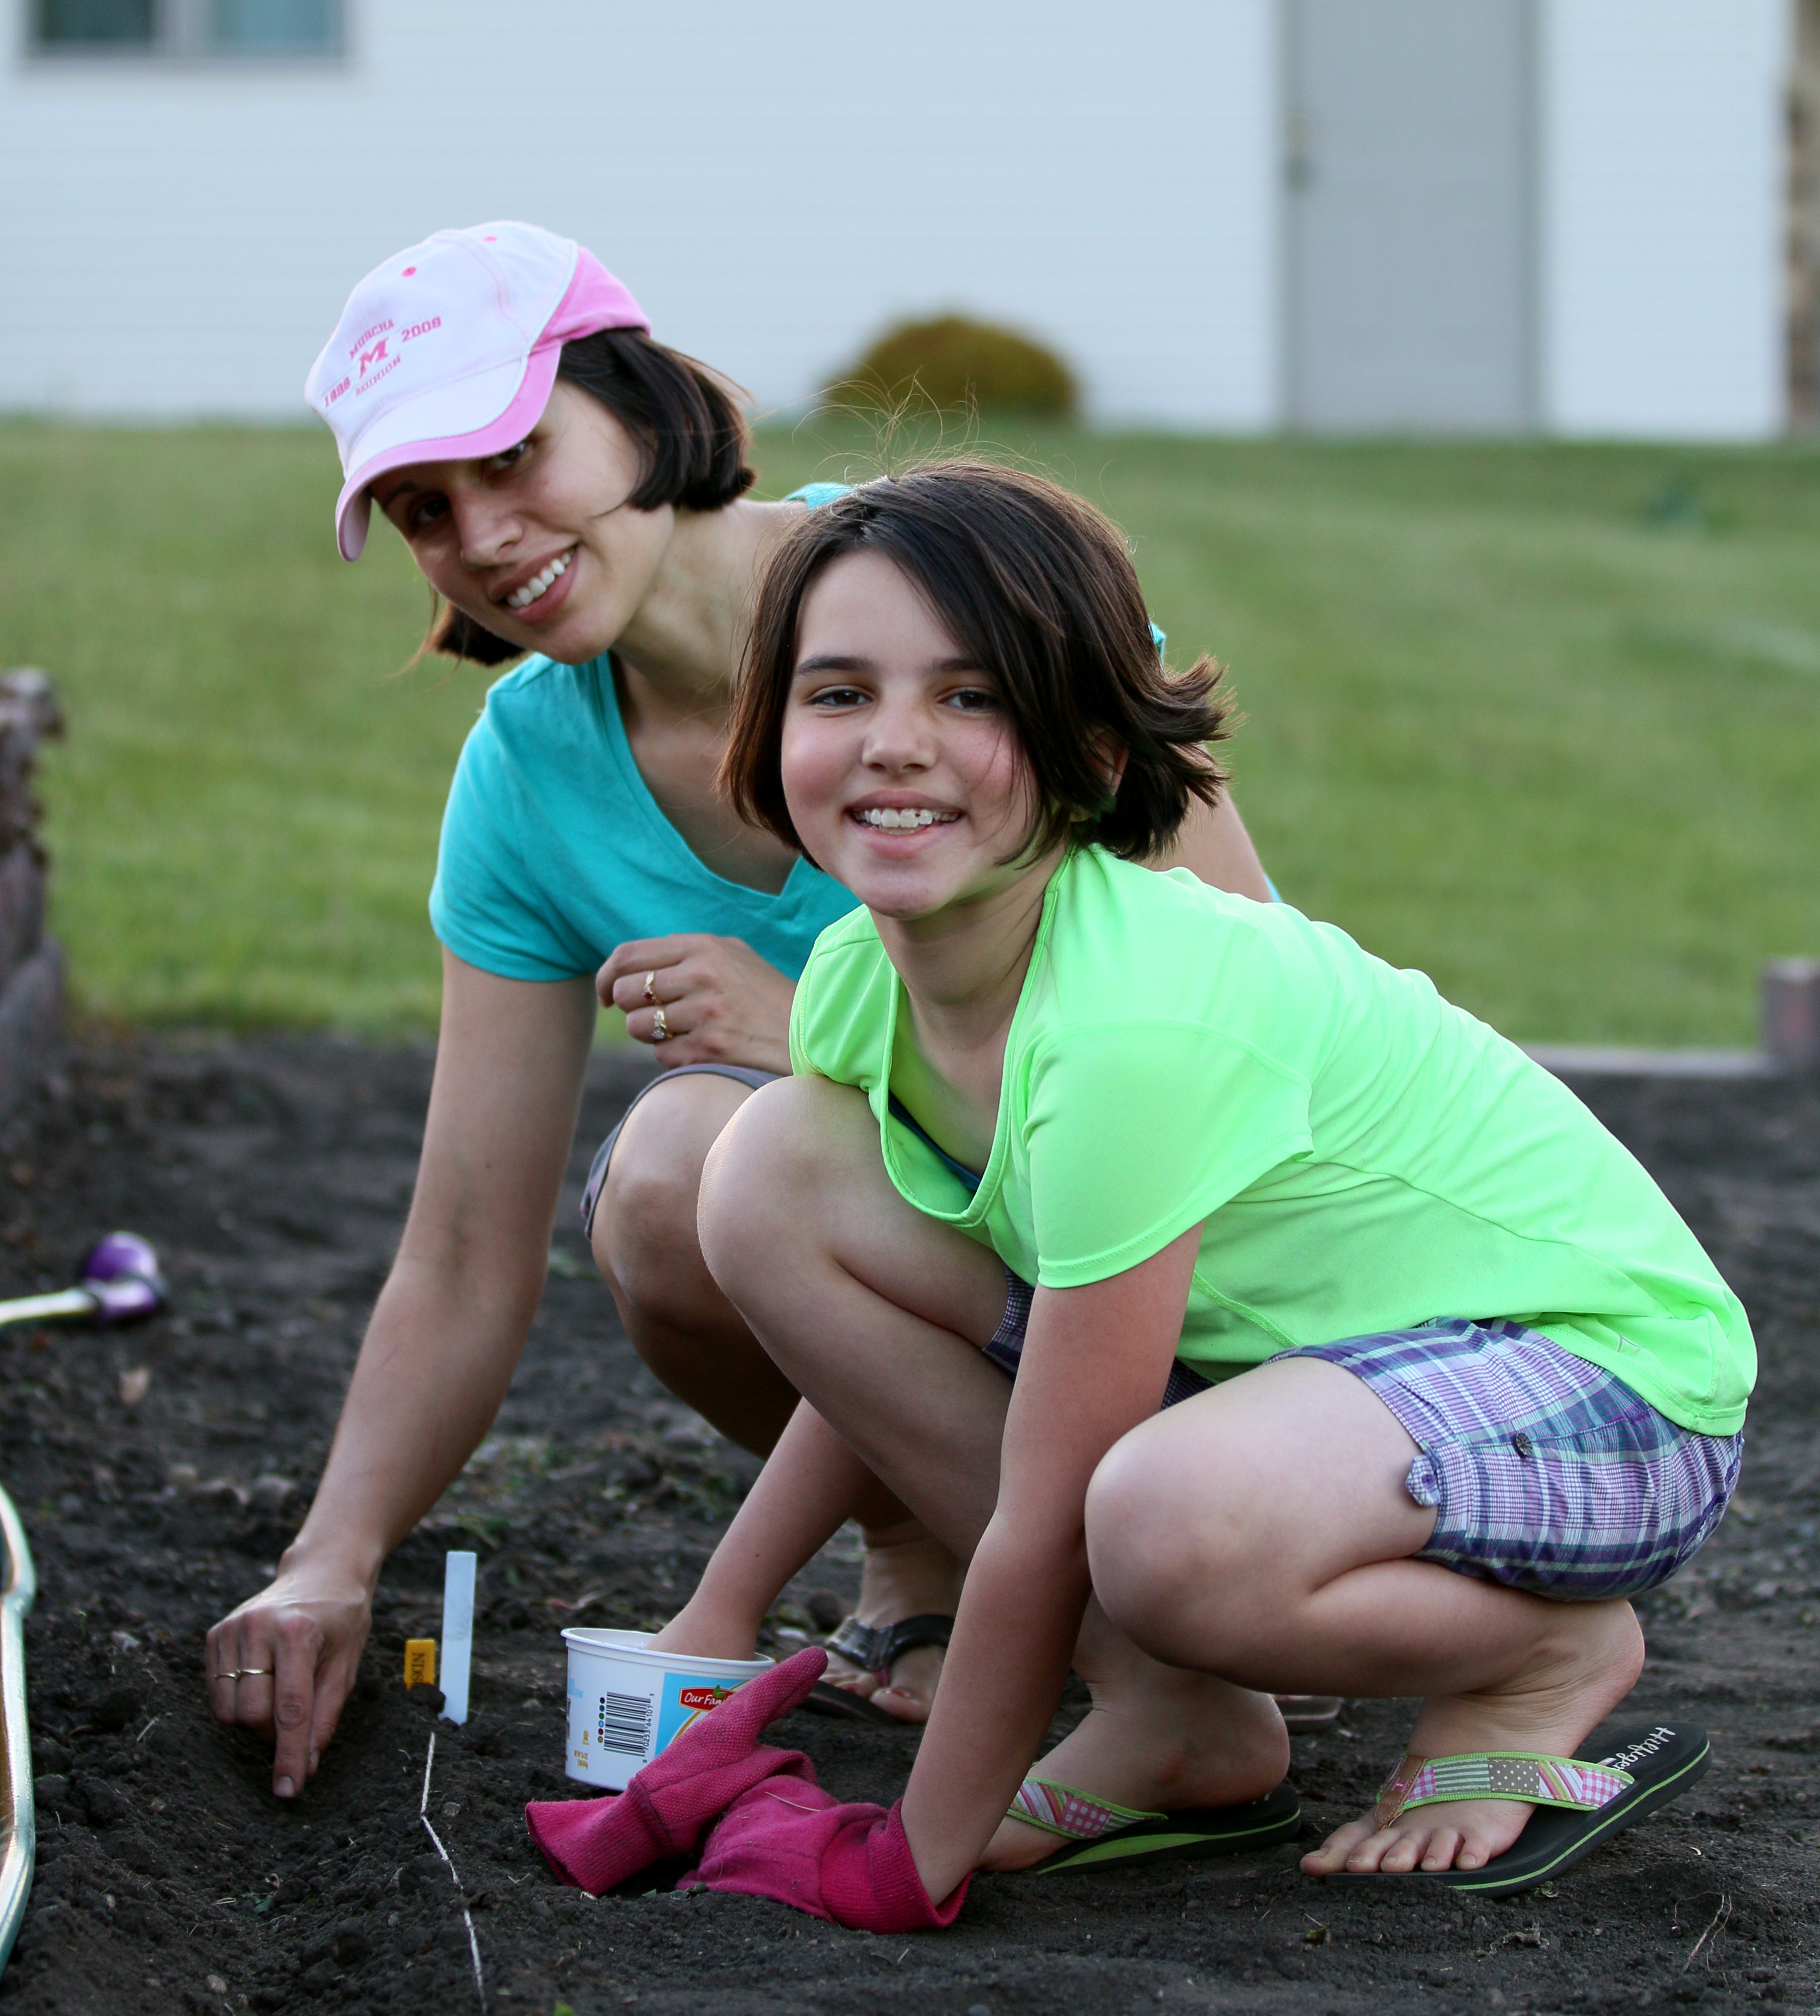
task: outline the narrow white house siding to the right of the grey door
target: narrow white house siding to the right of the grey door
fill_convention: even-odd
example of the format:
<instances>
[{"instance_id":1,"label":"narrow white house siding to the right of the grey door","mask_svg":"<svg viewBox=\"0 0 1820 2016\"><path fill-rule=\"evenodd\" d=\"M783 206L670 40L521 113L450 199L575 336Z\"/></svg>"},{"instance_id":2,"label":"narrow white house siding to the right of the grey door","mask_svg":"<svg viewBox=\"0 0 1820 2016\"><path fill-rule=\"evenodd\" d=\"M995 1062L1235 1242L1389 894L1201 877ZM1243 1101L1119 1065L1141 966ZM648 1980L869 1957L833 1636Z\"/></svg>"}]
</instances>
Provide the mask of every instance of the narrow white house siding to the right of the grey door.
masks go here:
<instances>
[{"instance_id":1,"label":"narrow white house siding to the right of the grey door","mask_svg":"<svg viewBox=\"0 0 1820 2016\"><path fill-rule=\"evenodd\" d=\"M1546 0L1552 431L1784 425L1788 65L1786 0Z\"/></svg>"}]
</instances>

